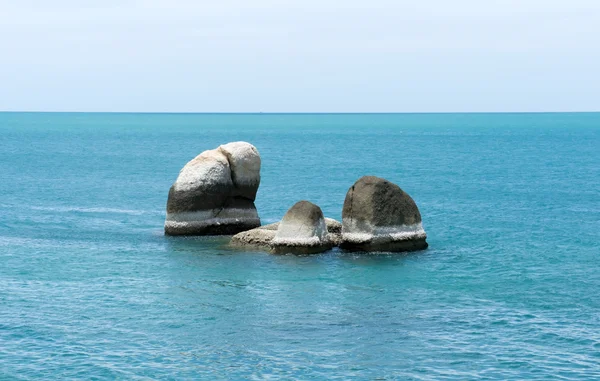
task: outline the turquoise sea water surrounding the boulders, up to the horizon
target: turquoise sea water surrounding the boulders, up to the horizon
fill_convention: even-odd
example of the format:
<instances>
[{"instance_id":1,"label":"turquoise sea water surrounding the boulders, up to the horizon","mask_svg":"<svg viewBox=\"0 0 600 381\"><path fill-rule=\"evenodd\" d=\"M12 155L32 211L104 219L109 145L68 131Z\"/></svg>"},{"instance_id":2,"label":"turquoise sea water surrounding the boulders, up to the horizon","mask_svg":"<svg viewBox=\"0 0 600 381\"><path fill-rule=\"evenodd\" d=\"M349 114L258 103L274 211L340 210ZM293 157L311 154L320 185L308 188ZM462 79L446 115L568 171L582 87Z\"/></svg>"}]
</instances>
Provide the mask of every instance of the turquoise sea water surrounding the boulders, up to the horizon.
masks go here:
<instances>
[{"instance_id":1,"label":"turquoise sea water surrounding the boulders, up to the horizon","mask_svg":"<svg viewBox=\"0 0 600 381\"><path fill-rule=\"evenodd\" d=\"M245 140L257 207L385 177L430 248L272 256L162 234ZM600 377L600 114L0 113L0 379Z\"/></svg>"}]
</instances>

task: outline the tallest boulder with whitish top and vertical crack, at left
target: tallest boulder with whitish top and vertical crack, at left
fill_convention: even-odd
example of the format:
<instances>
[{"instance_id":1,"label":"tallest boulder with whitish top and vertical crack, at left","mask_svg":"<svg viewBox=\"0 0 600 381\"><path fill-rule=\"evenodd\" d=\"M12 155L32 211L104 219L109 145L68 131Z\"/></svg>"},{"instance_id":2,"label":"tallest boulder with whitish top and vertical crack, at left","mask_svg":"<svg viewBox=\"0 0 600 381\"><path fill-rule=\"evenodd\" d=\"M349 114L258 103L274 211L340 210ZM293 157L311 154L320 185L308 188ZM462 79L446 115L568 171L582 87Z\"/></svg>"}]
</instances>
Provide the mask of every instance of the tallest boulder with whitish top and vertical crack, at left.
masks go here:
<instances>
[{"instance_id":1,"label":"tallest boulder with whitish top and vertical crack, at left","mask_svg":"<svg viewBox=\"0 0 600 381\"><path fill-rule=\"evenodd\" d=\"M260 155L246 142L196 156L179 172L167 200L167 235L236 234L260 226L254 206Z\"/></svg>"}]
</instances>

